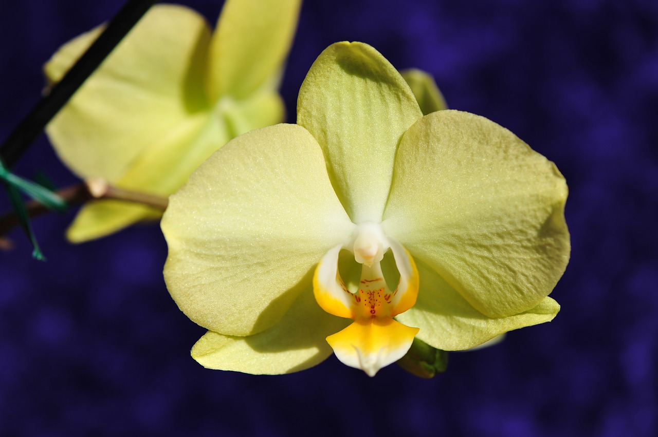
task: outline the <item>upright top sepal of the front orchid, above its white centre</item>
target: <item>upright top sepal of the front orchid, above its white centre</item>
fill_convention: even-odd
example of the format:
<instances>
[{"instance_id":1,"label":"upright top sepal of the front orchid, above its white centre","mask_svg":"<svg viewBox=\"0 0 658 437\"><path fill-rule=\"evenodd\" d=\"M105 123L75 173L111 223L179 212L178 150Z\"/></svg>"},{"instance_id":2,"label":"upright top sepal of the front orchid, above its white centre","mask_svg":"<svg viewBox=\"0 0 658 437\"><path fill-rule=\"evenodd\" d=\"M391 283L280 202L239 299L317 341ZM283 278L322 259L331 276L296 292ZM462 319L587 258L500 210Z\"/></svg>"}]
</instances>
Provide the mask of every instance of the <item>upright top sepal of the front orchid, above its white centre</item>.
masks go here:
<instances>
[{"instance_id":1,"label":"upright top sepal of the front orchid, above its white centre","mask_svg":"<svg viewBox=\"0 0 658 437\"><path fill-rule=\"evenodd\" d=\"M367 44L333 44L311 66L299 90L297 123L322 146L355 223L381 221L399 139L420 116L409 85Z\"/></svg>"}]
</instances>

